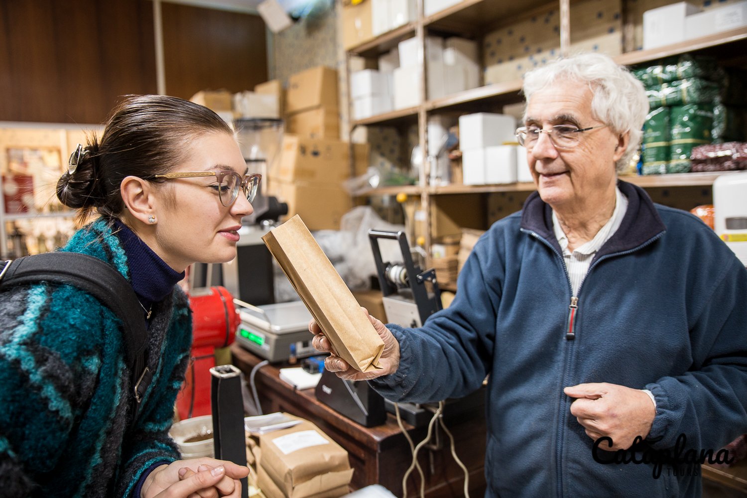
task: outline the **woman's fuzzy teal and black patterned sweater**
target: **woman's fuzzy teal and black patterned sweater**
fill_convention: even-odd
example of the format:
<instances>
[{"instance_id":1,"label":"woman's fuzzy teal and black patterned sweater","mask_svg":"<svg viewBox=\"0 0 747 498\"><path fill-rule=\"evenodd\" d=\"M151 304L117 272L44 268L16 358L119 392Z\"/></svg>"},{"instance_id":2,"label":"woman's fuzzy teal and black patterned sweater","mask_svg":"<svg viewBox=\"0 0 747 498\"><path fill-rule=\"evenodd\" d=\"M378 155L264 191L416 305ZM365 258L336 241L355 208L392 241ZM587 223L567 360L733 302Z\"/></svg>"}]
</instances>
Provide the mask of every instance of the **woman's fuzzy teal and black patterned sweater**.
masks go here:
<instances>
[{"instance_id":1,"label":"woman's fuzzy teal and black patterned sweater","mask_svg":"<svg viewBox=\"0 0 747 498\"><path fill-rule=\"evenodd\" d=\"M131 279L104 220L62 251L95 256ZM179 458L168 436L192 340L179 287L155 302L148 366L155 372L134 427L120 320L66 284L0 292L0 495L129 497L143 470Z\"/></svg>"}]
</instances>

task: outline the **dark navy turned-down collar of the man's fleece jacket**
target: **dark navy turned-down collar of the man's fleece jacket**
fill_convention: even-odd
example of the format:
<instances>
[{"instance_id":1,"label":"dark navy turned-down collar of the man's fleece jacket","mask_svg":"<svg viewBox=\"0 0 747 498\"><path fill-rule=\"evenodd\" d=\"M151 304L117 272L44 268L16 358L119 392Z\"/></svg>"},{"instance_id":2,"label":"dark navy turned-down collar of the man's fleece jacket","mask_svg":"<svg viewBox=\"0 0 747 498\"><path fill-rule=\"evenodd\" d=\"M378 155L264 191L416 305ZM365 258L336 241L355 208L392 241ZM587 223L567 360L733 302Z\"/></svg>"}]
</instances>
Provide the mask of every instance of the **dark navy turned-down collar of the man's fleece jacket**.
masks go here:
<instances>
[{"instance_id":1,"label":"dark navy turned-down collar of the man's fleece jacket","mask_svg":"<svg viewBox=\"0 0 747 498\"><path fill-rule=\"evenodd\" d=\"M601 247L594 259L615 252L625 252L641 246L666 230L654 202L641 187L618 180L620 192L627 197L627 211L620 228ZM560 244L553 232L552 208L533 192L521 210L521 228L545 239L558 252Z\"/></svg>"}]
</instances>

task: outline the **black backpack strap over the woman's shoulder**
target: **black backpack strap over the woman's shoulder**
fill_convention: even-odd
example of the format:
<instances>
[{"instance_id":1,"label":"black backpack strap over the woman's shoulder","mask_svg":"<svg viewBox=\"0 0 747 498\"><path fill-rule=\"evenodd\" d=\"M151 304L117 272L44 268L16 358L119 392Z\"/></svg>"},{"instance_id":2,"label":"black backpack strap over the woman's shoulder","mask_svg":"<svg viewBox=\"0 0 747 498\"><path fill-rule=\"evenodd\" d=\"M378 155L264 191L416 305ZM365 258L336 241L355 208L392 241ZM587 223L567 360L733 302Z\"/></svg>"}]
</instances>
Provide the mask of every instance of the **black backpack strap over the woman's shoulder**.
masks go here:
<instances>
[{"instance_id":1,"label":"black backpack strap over the woman's shoulder","mask_svg":"<svg viewBox=\"0 0 747 498\"><path fill-rule=\"evenodd\" d=\"M4 264L0 269L0 287L39 281L70 284L90 293L120 317L125 359L132 373L131 423L134 423L153 373L145 364L148 332L143 308L127 279L99 258L78 252L45 252L0 264Z\"/></svg>"}]
</instances>

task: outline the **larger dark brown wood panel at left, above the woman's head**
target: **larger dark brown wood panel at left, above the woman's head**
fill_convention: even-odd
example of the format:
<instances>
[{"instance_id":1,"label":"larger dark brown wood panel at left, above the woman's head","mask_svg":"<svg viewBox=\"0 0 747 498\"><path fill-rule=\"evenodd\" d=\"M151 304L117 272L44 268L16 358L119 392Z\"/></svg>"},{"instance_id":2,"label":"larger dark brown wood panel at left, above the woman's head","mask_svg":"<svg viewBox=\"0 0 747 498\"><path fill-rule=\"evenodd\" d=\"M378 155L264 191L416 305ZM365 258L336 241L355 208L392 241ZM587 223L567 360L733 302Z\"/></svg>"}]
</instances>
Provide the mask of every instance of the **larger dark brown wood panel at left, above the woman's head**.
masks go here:
<instances>
[{"instance_id":1,"label":"larger dark brown wood panel at left, above the woman's head","mask_svg":"<svg viewBox=\"0 0 747 498\"><path fill-rule=\"evenodd\" d=\"M148 0L0 1L0 120L99 123L155 93Z\"/></svg>"}]
</instances>

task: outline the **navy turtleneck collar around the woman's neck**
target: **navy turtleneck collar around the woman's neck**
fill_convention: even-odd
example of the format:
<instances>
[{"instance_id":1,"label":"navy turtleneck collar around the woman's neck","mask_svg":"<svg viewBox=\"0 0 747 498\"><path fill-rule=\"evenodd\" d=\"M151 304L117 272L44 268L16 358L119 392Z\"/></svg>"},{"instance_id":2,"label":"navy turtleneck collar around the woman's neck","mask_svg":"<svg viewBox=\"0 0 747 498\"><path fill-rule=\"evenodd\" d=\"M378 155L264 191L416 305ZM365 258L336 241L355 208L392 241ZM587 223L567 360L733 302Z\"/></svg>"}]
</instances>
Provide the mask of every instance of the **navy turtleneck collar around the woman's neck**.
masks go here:
<instances>
[{"instance_id":1,"label":"navy turtleneck collar around the woman's neck","mask_svg":"<svg viewBox=\"0 0 747 498\"><path fill-rule=\"evenodd\" d=\"M143 308L149 310L154 302L169 295L174 285L185 277L185 273L179 273L167 265L166 261L120 220L114 221L114 228L127 255L132 288Z\"/></svg>"}]
</instances>

